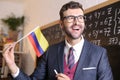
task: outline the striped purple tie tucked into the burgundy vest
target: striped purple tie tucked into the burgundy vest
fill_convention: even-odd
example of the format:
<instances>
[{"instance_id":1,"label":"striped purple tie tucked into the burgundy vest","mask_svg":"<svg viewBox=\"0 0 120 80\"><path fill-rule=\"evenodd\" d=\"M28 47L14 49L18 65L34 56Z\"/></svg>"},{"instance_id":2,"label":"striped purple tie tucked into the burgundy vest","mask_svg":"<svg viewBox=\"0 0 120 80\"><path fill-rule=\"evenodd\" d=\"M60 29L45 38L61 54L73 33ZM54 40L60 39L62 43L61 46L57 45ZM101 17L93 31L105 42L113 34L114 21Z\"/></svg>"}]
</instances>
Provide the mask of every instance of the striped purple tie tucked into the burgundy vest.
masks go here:
<instances>
[{"instance_id":1,"label":"striped purple tie tucked into the burgundy vest","mask_svg":"<svg viewBox=\"0 0 120 80\"><path fill-rule=\"evenodd\" d=\"M69 67L69 69L71 69L73 67L74 62L75 62L73 50L74 49L72 47L69 49L69 54L68 54L68 67Z\"/></svg>"}]
</instances>

